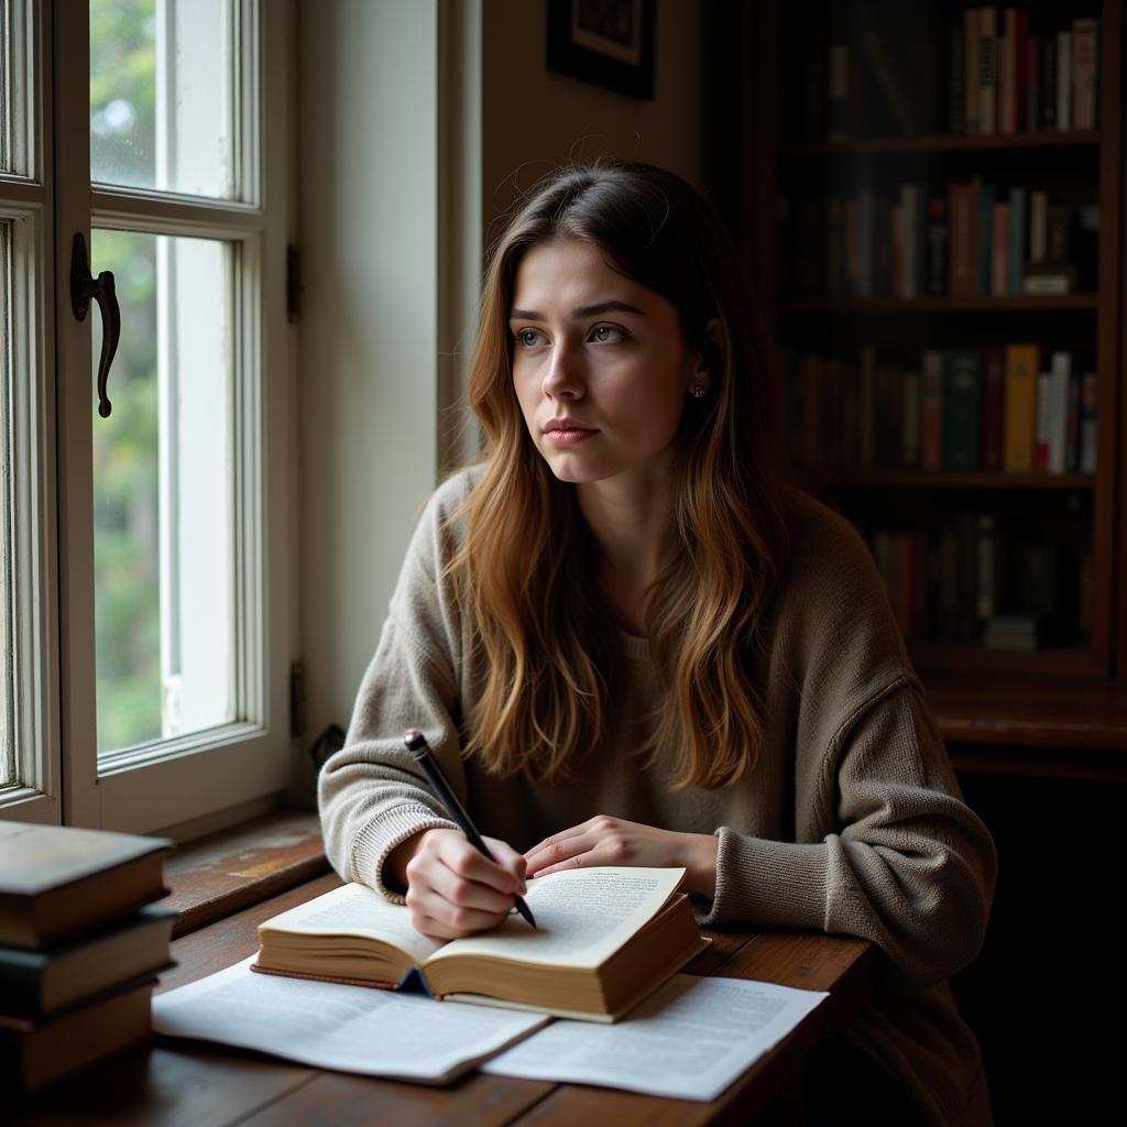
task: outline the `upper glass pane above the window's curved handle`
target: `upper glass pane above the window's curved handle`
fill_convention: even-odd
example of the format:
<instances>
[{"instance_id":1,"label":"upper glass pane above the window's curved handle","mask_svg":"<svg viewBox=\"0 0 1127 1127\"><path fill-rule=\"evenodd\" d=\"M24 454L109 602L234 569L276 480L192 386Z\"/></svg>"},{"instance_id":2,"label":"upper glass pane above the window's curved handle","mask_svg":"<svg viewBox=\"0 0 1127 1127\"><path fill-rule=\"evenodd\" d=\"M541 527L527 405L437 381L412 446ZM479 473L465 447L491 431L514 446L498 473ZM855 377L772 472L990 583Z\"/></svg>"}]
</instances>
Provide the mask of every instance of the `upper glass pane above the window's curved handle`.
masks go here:
<instances>
[{"instance_id":1,"label":"upper glass pane above the window's curved handle","mask_svg":"<svg viewBox=\"0 0 1127 1127\"><path fill-rule=\"evenodd\" d=\"M240 194L238 7L237 0L90 0L91 179Z\"/></svg>"}]
</instances>

